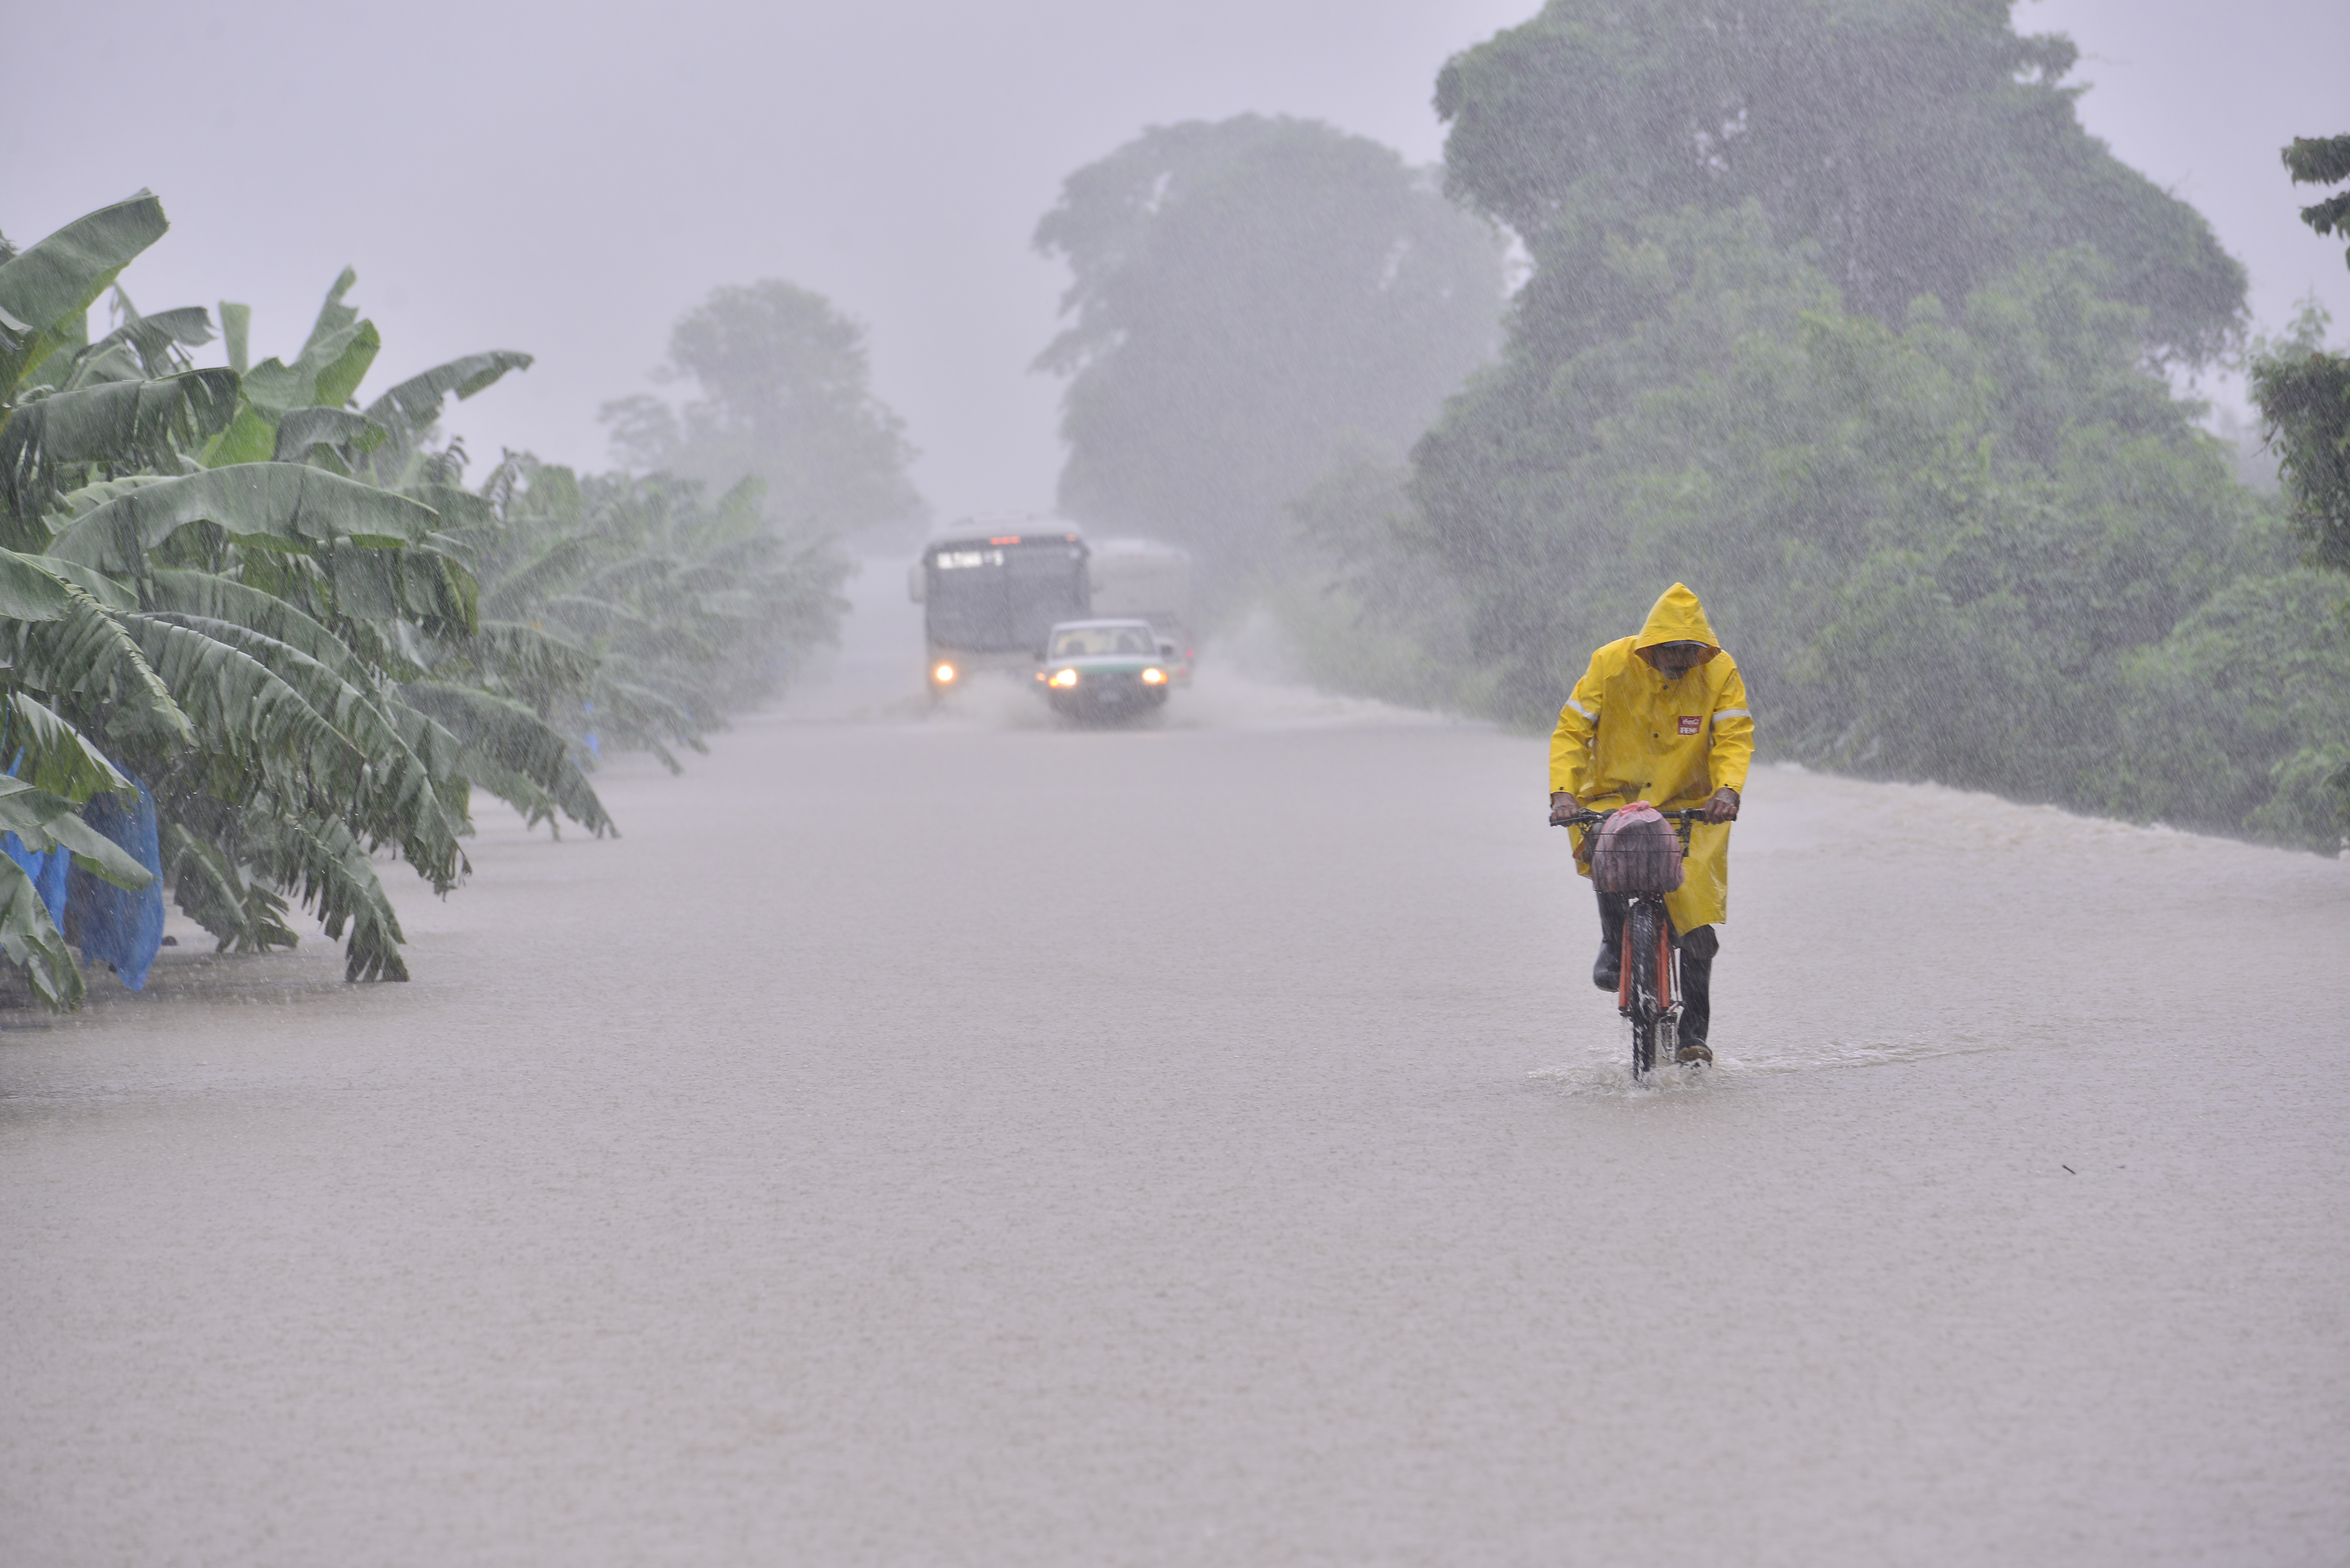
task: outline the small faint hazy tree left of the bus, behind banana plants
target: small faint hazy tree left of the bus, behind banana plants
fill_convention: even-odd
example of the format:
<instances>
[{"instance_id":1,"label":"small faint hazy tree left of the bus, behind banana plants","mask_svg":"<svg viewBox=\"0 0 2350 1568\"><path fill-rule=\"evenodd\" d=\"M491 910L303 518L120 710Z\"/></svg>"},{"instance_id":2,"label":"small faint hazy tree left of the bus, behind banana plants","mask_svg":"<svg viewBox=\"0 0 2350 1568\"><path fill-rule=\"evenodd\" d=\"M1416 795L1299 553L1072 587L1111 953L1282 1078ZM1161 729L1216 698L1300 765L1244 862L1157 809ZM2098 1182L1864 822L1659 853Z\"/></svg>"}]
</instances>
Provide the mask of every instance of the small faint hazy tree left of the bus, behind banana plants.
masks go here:
<instances>
[{"instance_id":1,"label":"small faint hazy tree left of the bus, behind banana plants","mask_svg":"<svg viewBox=\"0 0 2350 1568\"><path fill-rule=\"evenodd\" d=\"M825 296L773 277L712 289L653 378L700 397L682 413L649 394L604 404L620 462L712 491L754 477L776 516L837 533L924 516L905 420L872 394L865 329Z\"/></svg>"}]
</instances>

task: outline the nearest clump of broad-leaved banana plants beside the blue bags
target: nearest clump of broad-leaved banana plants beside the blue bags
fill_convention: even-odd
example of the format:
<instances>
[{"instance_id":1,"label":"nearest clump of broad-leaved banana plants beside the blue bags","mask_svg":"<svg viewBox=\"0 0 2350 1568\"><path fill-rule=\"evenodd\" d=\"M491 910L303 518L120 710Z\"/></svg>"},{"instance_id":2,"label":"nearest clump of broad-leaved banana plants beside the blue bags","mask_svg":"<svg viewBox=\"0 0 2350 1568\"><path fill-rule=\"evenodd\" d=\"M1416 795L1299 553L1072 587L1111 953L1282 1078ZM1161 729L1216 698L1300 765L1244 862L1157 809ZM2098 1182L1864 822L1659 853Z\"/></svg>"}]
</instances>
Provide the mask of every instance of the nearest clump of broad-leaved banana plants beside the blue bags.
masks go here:
<instances>
[{"instance_id":1,"label":"nearest clump of broad-leaved banana plants beside the blue bags","mask_svg":"<svg viewBox=\"0 0 2350 1568\"><path fill-rule=\"evenodd\" d=\"M162 871L223 948L291 944L301 901L348 934L352 979L404 979L376 852L454 887L475 784L595 831L609 819L545 725L444 723L404 697L425 678L414 650L477 631L475 580L428 505L345 477L392 437L345 406L378 345L343 305L348 275L294 364L193 369L209 315L141 317L120 291L122 324L87 340L89 305L162 228L141 192L0 258L0 516L21 547L0 561L0 723L21 751L9 798L35 791L0 826L80 864L92 831L59 812L146 784ZM247 331L240 310L240 361ZM416 380L465 394L519 364ZM414 430L423 392L402 387L390 408ZM110 854L101 873L153 880ZM0 953L45 1002L80 998L14 861Z\"/></svg>"}]
</instances>

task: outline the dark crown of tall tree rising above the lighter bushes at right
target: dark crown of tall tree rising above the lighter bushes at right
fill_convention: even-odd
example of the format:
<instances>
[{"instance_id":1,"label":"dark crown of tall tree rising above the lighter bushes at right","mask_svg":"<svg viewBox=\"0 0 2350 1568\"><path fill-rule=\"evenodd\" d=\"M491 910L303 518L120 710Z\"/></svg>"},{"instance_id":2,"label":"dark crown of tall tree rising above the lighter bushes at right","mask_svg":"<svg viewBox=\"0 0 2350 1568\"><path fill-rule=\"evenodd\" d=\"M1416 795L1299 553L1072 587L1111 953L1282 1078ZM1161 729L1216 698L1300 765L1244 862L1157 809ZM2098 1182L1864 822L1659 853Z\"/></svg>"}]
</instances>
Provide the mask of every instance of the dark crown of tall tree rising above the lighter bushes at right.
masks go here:
<instances>
[{"instance_id":1,"label":"dark crown of tall tree rising above the lighter bushes at right","mask_svg":"<svg viewBox=\"0 0 2350 1568\"><path fill-rule=\"evenodd\" d=\"M1549 0L1438 77L1445 181L1535 254L1516 336L1551 357L1626 324L1636 300L1586 277L1629 221L1760 202L1892 326L2089 244L2150 352L2207 361L2240 333L2244 268L2082 131L2073 61L2019 38L2007 0Z\"/></svg>"}]
</instances>

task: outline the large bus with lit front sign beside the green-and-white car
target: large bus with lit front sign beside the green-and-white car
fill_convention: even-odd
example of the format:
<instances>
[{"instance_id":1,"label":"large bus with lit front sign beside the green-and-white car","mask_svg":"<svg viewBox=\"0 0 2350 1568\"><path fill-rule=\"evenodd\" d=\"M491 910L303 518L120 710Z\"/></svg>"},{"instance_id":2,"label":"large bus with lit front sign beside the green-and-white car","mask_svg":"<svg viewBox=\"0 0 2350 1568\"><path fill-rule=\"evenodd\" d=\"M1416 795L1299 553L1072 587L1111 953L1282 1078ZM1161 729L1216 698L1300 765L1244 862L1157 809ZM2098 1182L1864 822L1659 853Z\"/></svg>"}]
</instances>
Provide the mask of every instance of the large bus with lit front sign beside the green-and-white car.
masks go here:
<instances>
[{"instance_id":1,"label":"large bus with lit front sign beside the green-and-white car","mask_svg":"<svg viewBox=\"0 0 2350 1568\"><path fill-rule=\"evenodd\" d=\"M1093 615L1088 556L1076 526L1053 516L971 516L931 540L907 573L931 695L980 674L1027 681L1053 627Z\"/></svg>"}]
</instances>

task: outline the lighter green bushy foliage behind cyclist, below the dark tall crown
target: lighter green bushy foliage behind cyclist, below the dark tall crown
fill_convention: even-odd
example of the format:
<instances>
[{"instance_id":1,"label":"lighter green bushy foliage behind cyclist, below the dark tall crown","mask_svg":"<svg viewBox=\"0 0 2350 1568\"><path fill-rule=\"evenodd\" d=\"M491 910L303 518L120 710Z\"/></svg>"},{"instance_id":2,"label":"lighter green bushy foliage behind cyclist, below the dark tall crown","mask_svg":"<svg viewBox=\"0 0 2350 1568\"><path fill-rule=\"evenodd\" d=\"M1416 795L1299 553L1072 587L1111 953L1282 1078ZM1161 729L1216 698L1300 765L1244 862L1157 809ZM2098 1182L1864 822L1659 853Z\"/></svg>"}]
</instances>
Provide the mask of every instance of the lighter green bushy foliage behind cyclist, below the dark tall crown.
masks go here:
<instances>
[{"instance_id":1,"label":"lighter green bushy foliage behind cyclist, below the dark tall crown","mask_svg":"<svg viewBox=\"0 0 2350 1568\"><path fill-rule=\"evenodd\" d=\"M1600 265L1622 336L1513 354L1417 451L1394 570L1434 554L1462 587L1492 711L1546 721L1680 577L1779 756L2284 831L2265 798L2207 810L2115 763L2148 650L2287 552L2146 371L2143 312L2108 298L2099 256L2042 258L1955 312L1920 300L1899 329L1847 312L1758 204L1647 218Z\"/></svg>"}]
</instances>

